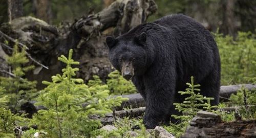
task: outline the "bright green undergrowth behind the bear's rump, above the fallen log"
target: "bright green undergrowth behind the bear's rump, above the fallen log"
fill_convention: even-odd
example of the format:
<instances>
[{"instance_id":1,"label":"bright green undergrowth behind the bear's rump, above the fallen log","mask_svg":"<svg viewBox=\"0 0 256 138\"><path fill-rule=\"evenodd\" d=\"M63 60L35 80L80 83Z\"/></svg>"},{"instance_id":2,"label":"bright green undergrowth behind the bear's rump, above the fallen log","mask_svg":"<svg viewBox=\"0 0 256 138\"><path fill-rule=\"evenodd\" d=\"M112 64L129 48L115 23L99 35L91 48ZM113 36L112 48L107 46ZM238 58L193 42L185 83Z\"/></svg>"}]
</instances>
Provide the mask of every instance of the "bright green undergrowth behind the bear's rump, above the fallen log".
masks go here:
<instances>
[{"instance_id":1,"label":"bright green undergrowth behind the bear's rump, above the fallen log","mask_svg":"<svg viewBox=\"0 0 256 138\"><path fill-rule=\"evenodd\" d=\"M255 83L256 36L238 32L237 38L213 33L221 56L221 84Z\"/></svg>"}]
</instances>

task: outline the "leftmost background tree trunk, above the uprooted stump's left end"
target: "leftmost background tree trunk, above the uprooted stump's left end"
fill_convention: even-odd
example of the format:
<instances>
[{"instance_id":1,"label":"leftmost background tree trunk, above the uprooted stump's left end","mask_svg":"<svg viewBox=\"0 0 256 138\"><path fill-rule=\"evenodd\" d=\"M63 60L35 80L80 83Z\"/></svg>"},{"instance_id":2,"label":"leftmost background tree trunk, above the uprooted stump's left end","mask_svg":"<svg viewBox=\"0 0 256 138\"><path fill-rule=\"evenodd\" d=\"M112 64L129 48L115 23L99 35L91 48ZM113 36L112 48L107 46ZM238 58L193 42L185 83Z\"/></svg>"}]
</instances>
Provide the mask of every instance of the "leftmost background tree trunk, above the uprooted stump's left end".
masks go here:
<instances>
[{"instance_id":1,"label":"leftmost background tree trunk, above the uprooted stump's left end","mask_svg":"<svg viewBox=\"0 0 256 138\"><path fill-rule=\"evenodd\" d=\"M8 0L9 20L23 16L23 0Z\"/></svg>"}]
</instances>

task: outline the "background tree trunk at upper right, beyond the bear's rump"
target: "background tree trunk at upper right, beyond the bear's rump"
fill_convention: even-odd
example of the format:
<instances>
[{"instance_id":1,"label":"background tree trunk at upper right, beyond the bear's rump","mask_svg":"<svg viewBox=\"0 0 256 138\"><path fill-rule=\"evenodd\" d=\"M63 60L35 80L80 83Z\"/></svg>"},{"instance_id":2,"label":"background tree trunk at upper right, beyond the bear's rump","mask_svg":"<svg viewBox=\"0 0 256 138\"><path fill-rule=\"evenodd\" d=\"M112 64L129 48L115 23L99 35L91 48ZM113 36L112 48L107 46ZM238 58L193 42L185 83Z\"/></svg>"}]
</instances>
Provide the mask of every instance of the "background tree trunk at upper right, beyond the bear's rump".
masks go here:
<instances>
[{"instance_id":1,"label":"background tree trunk at upper right, beyond the bear's rump","mask_svg":"<svg viewBox=\"0 0 256 138\"><path fill-rule=\"evenodd\" d=\"M235 0L223 1L223 23L222 23L222 33L225 35L236 36L236 28L234 27L234 3Z\"/></svg>"}]
</instances>

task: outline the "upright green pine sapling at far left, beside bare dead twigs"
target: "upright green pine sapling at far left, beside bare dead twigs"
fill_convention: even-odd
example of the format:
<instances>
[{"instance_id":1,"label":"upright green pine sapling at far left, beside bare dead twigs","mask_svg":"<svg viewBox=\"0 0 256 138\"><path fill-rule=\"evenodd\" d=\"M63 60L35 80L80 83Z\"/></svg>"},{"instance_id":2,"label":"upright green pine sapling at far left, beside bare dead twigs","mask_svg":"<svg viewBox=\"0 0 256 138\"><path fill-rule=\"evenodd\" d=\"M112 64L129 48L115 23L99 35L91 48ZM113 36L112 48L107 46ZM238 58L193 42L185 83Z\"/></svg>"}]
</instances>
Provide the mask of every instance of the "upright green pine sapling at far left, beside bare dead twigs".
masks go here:
<instances>
[{"instance_id":1,"label":"upright green pine sapling at far left, beside bare dead twigs","mask_svg":"<svg viewBox=\"0 0 256 138\"><path fill-rule=\"evenodd\" d=\"M33 65L25 66L29 62L25 49L19 52L17 43L14 45L12 55L7 57L7 63L11 65L12 77L0 77L0 86L6 89L5 95L9 98L8 106L16 112L20 104L30 101L36 95L36 81L29 81L25 73L34 68Z\"/></svg>"}]
</instances>

